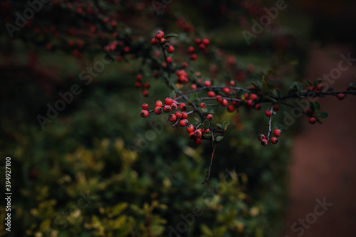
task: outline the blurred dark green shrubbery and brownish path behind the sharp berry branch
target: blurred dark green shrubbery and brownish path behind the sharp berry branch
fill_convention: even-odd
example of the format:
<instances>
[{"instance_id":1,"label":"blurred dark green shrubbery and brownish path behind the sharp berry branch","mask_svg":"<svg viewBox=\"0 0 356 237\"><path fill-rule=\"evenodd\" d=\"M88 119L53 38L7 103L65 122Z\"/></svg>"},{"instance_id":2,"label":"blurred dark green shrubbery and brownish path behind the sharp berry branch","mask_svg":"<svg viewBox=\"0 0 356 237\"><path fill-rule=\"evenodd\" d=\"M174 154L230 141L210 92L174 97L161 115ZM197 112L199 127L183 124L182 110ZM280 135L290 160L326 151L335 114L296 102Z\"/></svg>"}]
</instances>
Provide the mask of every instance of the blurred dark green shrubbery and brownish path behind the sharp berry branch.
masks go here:
<instances>
[{"instance_id":1,"label":"blurred dark green shrubbery and brownish path behind the sharp berry branch","mask_svg":"<svg viewBox=\"0 0 356 237\"><path fill-rule=\"evenodd\" d=\"M341 54L356 58L354 1L286 1L254 32L277 2L1 1L0 184L11 157L13 195L11 233L1 201L0 236L355 236L355 97L320 98L323 125L301 117L267 147L256 139L266 107L214 109L231 125L204 185L211 144L195 145L167 115L140 117L142 103L171 93L144 65L159 51L150 45L158 29L179 35L173 66L194 38L209 38L209 53L189 62L203 79L249 87L272 68L283 93L293 80L323 78ZM247 31L256 36L246 41ZM108 51L115 60L93 73ZM349 65L330 87L355 82ZM150 88L135 88L137 73ZM70 91L49 117L48 104ZM333 206L316 216L317 199Z\"/></svg>"}]
</instances>

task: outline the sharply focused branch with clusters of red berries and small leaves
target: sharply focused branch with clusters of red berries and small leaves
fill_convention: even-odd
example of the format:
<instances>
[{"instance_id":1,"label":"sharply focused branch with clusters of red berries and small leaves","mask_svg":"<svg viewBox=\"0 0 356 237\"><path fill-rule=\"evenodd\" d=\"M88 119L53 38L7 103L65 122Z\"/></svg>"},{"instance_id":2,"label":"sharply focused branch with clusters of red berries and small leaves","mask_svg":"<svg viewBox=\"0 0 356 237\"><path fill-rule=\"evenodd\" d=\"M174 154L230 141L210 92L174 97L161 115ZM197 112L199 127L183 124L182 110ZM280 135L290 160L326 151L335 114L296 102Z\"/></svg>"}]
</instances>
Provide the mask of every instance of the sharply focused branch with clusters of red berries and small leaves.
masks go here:
<instances>
[{"instance_id":1,"label":"sharply focused branch with clusters of red berries and small leaves","mask_svg":"<svg viewBox=\"0 0 356 237\"><path fill-rule=\"evenodd\" d=\"M262 73L262 80L252 82L249 88L236 87L235 80L229 80L227 85L212 85L210 80L202 80L200 73L191 69L191 73L187 73L185 65L172 67L172 57L167 57L166 53L174 53L174 47L169 45L169 38L177 37L177 34L169 34L164 36L163 31L157 31L155 38L152 38L152 46L159 46L163 55L163 62L155 63L159 67L155 70L167 73L161 75L167 83L169 89L172 89L172 98L165 98L164 102L157 100L154 108L149 110L149 105L142 105L141 117L148 117L150 113L160 115L163 112L169 113L168 120L172 122L172 127L185 127L189 139L194 140L195 144L199 145L203 140L209 141L212 144L211 162L207 170L207 177L202 184L209 181L211 166L213 163L214 152L216 145L221 142L224 132L229 127L229 122L213 123L213 111L209 111L208 107L226 107L228 112L239 112L240 109L246 110L261 110L261 104L270 105L270 109L265 111L268 117L268 133L267 135L258 135L258 140L263 146L269 143L277 144L278 138L281 136L281 130L276 129L272 132L273 115L280 110L280 106L292 107L300 113L308 117L311 124L320 122L320 119L328 117L325 112L320 112L320 104L318 102L308 101L308 110L303 111L299 107L288 103L288 100L300 100L308 98L323 98L325 96L336 96L338 100L344 100L347 95L356 95L356 83L351 83L350 87L345 91L335 92L333 88L324 88L323 84L316 80L315 83L307 82L308 87L304 88L303 84L294 82L287 95L281 95L281 90L276 88L276 85L268 83L268 76L273 74L273 70L268 70L267 73ZM202 51L209 46L209 40L196 39L194 40ZM189 46L189 53L194 53L194 47ZM194 56L195 58L196 56ZM190 57L192 58L192 57ZM172 74L174 73L174 75ZM190 74L190 75L189 75ZM190 88L187 88L190 85ZM209 103L206 103L210 101ZM216 102L214 102L216 101ZM177 111L176 111L177 110ZM174 112L175 111L175 112ZM195 123L189 120L189 117L194 117ZM195 124L195 125L194 125ZM274 135L274 137L273 137Z\"/></svg>"}]
</instances>

